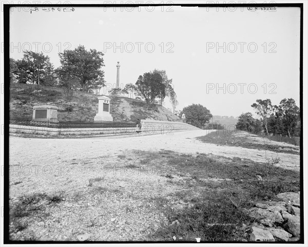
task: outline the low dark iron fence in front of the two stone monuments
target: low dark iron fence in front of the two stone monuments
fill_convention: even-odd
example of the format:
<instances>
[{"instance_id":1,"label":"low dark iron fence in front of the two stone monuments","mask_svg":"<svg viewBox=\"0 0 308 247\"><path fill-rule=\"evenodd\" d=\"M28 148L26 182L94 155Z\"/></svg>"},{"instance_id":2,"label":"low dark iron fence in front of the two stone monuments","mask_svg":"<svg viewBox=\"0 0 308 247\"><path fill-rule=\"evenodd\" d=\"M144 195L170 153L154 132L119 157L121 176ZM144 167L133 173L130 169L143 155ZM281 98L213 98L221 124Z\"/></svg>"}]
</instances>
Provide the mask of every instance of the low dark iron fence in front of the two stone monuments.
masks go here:
<instances>
[{"instance_id":1,"label":"low dark iron fence in front of the two stone monuments","mask_svg":"<svg viewBox=\"0 0 308 247\"><path fill-rule=\"evenodd\" d=\"M10 124L49 128L129 128L134 122L64 121L57 119L10 118Z\"/></svg>"}]
</instances>

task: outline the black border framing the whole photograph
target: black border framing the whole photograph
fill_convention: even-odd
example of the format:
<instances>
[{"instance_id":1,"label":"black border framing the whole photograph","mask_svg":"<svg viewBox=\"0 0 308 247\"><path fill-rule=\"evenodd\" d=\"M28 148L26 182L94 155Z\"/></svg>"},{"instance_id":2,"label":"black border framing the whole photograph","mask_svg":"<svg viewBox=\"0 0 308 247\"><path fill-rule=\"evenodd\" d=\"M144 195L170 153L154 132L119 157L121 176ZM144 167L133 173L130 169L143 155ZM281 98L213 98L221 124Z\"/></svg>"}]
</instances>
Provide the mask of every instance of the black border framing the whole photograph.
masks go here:
<instances>
[{"instance_id":1,"label":"black border framing the whole photograph","mask_svg":"<svg viewBox=\"0 0 308 247\"><path fill-rule=\"evenodd\" d=\"M55 5L42 5L42 4L35 4L35 5L18 5L18 4L10 4L4 5L4 80L9 81L9 8L10 7L144 7L144 6L187 6L187 7L298 7L300 8L300 117L301 117L301 138L300 138L300 191L303 192L303 3L275 3L275 4L55 4ZM6 154L5 160L8 161L9 157L9 98L10 98L10 89L9 87L5 87L4 89L4 111L5 111L5 118L4 118L4 154ZM8 162L7 162L8 163ZM9 211L9 167L8 165L4 166L4 212ZM303 193L300 194L300 204L303 205L300 208L300 216L301 216L301 239L297 242L292 243L304 243L304 201L303 201ZM84 243L144 243L144 242L106 242L106 241L11 241L9 240L9 215L4 213L4 243L5 244L46 244L46 243L74 243L74 244L84 244ZM149 241L147 243L165 243L164 241ZM171 243L171 242L168 242ZM181 242L181 243L191 243L191 242ZM194 242L196 243L196 242ZM211 242L206 242L211 243ZM217 242L214 242L217 243ZM235 242L222 242L222 243L235 243ZM246 244L247 242L236 242L239 244ZM266 242L264 242L266 243ZM271 242L273 244L278 242ZM286 242L287 243L287 242ZM279 243L278 243L279 244ZM281 244L281 243L280 243Z\"/></svg>"}]
</instances>

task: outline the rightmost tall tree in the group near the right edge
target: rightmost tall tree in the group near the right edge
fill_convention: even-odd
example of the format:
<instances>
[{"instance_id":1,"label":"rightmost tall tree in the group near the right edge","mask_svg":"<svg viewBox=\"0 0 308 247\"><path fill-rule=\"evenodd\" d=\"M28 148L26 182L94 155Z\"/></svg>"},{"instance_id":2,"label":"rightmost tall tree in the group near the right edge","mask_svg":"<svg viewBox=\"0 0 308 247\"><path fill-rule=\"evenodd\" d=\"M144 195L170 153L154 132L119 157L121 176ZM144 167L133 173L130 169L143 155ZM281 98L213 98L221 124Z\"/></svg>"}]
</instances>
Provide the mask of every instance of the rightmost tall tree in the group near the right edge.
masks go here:
<instances>
[{"instance_id":1,"label":"rightmost tall tree in the group near the right edge","mask_svg":"<svg viewBox=\"0 0 308 247\"><path fill-rule=\"evenodd\" d=\"M295 104L294 99L283 99L278 106L279 115L282 117L284 129L288 137L291 138L295 127L300 119L299 107Z\"/></svg>"}]
</instances>

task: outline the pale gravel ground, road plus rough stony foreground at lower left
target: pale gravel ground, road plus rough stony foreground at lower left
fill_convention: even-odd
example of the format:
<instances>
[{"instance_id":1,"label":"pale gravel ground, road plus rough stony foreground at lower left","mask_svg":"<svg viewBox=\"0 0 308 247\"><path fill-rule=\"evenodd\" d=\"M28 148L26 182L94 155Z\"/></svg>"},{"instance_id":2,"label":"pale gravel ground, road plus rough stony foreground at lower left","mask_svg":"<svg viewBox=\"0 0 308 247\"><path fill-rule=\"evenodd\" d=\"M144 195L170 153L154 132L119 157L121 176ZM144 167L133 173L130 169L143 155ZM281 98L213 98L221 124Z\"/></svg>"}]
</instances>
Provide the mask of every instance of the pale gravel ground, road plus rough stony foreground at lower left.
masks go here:
<instances>
[{"instance_id":1,"label":"pale gravel ground, road plus rough stony foreground at lower left","mask_svg":"<svg viewBox=\"0 0 308 247\"><path fill-rule=\"evenodd\" d=\"M33 206L41 208L31 218L15 217L18 222L11 222L10 238L148 241L146 236L167 222L156 199L166 198L181 187L167 183L168 178L157 173L138 173L136 169L132 174L129 169L123 172L123 167L133 167L140 159L134 159L133 150L211 153L265 162L262 150L217 146L195 139L207 133L194 130L174 135L84 139L10 137L11 214L15 214L21 202L29 206L27 197L33 195L40 198L32 202ZM124 163L124 157L129 157L130 162ZM266 151L266 157L277 154ZM279 154L279 157L278 165L299 168L298 155ZM50 196L54 195L61 200L51 201ZM172 206L172 202L168 203L168 207ZM182 205L177 202L174 206ZM25 230L14 230L16 225L25 224L28 224Z\"/></svg>"}]
</instances>

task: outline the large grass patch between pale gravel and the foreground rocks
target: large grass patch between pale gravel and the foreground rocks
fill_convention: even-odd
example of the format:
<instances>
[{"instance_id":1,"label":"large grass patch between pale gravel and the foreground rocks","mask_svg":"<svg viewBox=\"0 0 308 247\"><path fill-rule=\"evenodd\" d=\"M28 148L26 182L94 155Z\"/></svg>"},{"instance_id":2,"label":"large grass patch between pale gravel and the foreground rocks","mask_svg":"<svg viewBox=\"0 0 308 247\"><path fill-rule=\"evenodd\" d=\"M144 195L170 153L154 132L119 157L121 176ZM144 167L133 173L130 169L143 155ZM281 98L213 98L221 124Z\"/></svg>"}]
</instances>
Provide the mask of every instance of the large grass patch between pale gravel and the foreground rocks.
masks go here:
<instances>
[{"instance_id":1,"label":"large grass patch between pale gravel and the foreground rocks","mask_svg":"<svg viewBox=\"0 0 308 247\"><path fill-rule=\"evenodd\" d=\"M246 241L246 225L253 223L246 215L248 208L258 201L276 200L279 193L299 191L298 172L277 166L266 172L266 163L207 154L136 153L150 159L156 171L164 170L161 177L166 184L180 189L168 200L156 200L168 219L149 236L156 241L174 241L173 236L176 241ZM257 175L264 179L258 180Z\"/></svg>"}]
</instances>

